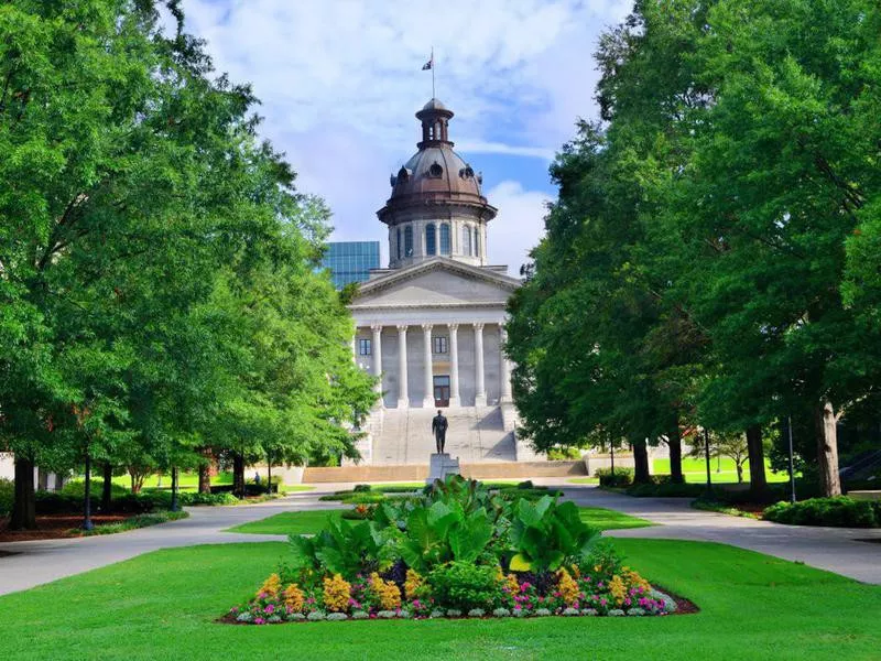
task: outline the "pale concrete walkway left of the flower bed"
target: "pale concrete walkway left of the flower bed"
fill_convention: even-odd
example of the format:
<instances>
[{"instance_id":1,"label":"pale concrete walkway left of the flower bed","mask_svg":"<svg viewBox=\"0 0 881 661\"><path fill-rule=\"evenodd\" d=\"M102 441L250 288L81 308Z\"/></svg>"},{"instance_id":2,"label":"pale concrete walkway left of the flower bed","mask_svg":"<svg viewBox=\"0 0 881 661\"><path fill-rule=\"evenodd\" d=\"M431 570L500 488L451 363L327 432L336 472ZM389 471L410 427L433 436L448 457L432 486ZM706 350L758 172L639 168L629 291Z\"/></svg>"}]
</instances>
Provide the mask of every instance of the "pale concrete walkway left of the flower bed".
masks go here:
<instances>
[{"instance_id":1,"label":"pale concrete walkway left of the flower bed","mask_svg":"<svg viewBox=\"0 0 881 661\"><path fill-rule=\"evenodd\" d=\"M28 589L157 549L284 540L281 535L222 531L279 512L338 508L338 502L318 500L324 492L324 489L301 491L259 505L191 507L186 508L189 512L187 519L118 534L2 543L0 551L13 555L0 557L0 595Z\"/></svg>"}]
</instances>

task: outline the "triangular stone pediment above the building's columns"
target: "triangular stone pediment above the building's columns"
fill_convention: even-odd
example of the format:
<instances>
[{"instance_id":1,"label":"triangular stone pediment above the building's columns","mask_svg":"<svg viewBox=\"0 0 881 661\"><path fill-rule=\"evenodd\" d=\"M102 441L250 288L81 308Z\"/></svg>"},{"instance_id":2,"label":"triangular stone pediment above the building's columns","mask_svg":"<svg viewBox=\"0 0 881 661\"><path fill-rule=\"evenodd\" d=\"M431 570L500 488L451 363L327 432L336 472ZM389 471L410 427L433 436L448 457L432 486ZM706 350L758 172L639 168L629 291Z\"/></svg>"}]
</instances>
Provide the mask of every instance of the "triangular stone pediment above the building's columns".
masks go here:
<instances>
[{"instance_id":1,"label":"triangular stone pediment above the building's columns","mask_svg":"<svg viewBox=\"0 0 881 661\"><path fill-rule=\"evenodd\" d=\"M519 285L509 275L436 258L363 283L351 307L504 305Z\"/></svg>"}]
</instances>

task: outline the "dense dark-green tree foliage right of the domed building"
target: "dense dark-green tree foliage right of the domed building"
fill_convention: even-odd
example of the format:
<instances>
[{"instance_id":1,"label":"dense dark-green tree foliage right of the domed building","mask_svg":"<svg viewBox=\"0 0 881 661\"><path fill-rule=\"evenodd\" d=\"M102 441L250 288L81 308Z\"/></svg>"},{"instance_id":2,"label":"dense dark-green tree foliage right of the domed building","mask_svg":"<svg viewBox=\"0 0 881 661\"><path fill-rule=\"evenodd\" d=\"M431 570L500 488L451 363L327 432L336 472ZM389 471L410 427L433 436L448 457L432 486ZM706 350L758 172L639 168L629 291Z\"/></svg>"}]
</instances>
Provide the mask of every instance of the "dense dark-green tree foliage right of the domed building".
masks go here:
<instances>
[{"instance_id":1,"label":"dense dark-green tree foliage right of the domed building","mask_svg":"<svg viewBox=\"0 0 881 661\"><path fill-rule=\"evenodd\" d=\"M540 447L746 431L761 490L793 415L840 492L836 423L878 405L879 25L867 0L639 1L603 34L600 121L511 304Z\"/></svg>"}]
</instances>

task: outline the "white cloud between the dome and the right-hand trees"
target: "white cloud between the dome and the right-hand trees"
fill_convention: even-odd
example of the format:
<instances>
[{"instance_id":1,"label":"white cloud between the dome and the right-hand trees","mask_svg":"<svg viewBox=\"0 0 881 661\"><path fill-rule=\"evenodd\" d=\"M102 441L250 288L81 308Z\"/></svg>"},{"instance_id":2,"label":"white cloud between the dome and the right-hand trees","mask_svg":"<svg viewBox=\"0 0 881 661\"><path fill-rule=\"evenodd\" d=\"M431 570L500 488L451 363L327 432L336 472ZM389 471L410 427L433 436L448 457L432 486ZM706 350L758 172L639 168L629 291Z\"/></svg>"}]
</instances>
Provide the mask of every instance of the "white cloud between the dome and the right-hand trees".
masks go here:
<instances>
[{"instance_id":1,"label":"white cloud between the dome and the right-hand trees","mask_svg":"<svg viewBox=\"0 0 881 661\"><path fill-rule=\"evenodd\" d=\"M551 198L539 191L524 191L520 182L504 181L487 192L499 209L490 221L487 251L491 264L507 264L510 275L530 261L529 251L544 234L544 216Z\"/></svg>"}]
</instances>

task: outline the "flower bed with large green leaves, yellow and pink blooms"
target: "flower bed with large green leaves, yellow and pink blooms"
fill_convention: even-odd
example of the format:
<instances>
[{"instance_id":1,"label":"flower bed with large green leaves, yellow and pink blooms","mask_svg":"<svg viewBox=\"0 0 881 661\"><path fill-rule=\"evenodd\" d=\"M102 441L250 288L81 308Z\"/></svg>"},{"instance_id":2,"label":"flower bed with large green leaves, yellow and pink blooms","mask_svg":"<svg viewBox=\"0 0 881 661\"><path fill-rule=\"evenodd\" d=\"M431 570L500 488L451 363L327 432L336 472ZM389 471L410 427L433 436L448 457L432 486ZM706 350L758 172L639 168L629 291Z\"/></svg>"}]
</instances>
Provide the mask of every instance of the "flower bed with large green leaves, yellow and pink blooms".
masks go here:
<instances>
[{"instance_id":1,"label":"flower bed with large green leaves, yellow and pink blooms","mask_svg":"<svg viewBox=\"0 0 881 661\"><path fill-rule=\"evenodd\" d=\"M394 618L661 616L676 602L623 565L556 497L510 499L450 478L329 520L224 618L281 624Z\"/></svg>"}]
</instances>

